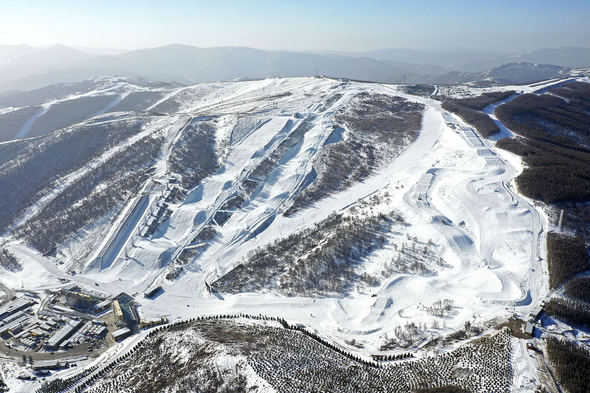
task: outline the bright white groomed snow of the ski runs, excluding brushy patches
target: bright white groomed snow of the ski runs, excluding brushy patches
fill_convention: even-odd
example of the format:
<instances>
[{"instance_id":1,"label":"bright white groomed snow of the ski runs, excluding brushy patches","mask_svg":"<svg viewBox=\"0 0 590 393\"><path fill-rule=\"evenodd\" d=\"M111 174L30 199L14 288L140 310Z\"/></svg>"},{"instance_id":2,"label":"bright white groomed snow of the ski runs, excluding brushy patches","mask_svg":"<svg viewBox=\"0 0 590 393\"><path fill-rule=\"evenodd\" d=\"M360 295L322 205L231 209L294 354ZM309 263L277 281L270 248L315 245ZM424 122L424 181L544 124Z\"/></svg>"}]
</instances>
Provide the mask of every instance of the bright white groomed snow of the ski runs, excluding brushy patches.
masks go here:
<instances>
[{"instance_id":1,"label":"bright white groomed snow of the ski runs, excluding brushy patches","mask_svg":"<svg viewBox=\"0 0 590 393\"><path fill-rule=\"evenodd\" d=\"M113 85L100 94L120 88L118 84ZM471 88L461 89L463 95L478 94ZM496 90L520 93L534 89L518 86ZM333 114L363 91L398 95L424 104L426 109L417 140L365 181L283 216L281 213L296 196L314 158L332 132ZM342 96L329 100L335 93ZM105 110L123 100L124 94L117 93ZM438 101L404 94L390 85L339 84L316 78L267 78L179 87L149 109L156 110L169 100L176 100L176 113L154 124L154 127L168 128L166 146L172 146L188 116L218 115L217 143L219 150L224 151L221 167L185 199L170 206L172 216L152 237L137 236L136 227L127 228L124 238L117 237L120 245L114 247L109 263L95 263L99 252L95 250L84 260L83 271L74 276L67 274L70 264L60 265L6 237L5 246L21 260L23 270L3 272L5 285L16 289L50 289L60 285L59 278L65 278L113 296L120 292L139 293L136 300L141 303L143 313L171 315L172 319L240 312L281 316L290 323L303 323L310 331L362 356L378 352L388 338L395 336L396 326L408 322L422 326L423 340L416 344L421 346L432 338L458 331L467 321L487 329L513 311L527 315L545 299L548 286L543 263L548 220L539 207L516 191L513 179L523 169L520 158L494 148L494 141L478 136L460 118L442 110ZM320 111L326 102L329 107ZM301 115L296 118L294 113ZM486 113L493 116L493 110ZM287 136L284 132L287 124L293 122L291 129L294 129L308 115L315 115L309 120L313 128L303 141L287 151L246 206L217 228L219 235L185 266L178 279L166 280L167 267L160 265L160 256L167 255L174 260L219 207L241 189L240 183L248 173ZM232 138L234 127L250 117L261 121L253 121L256 127L248 129L240 138ZM151 130L147 128L143 132ZM143 134L134 138L140 135ZM104 153L92 165L112 153ZM157 176L166 173L168 154L169 148L162 154ZM65 177L64 181L80 176L83 171ZM363 203L375 197L381 202ZM352 207L357 213L351 212ZM149 215L149 209L142 209L143 214ZM228 272L256 247L311 227L332 212L376 214L392 209L401 212L408 225L394 226L385 245L359 267L361 272L379 276L378 286L361 286L351 293L329 298L287 297L272 291L211 294L205 288L205 281L210 283ZM21 219L34 213L33 206ZM249 239L248 235L271 216L274 220L267 229ZM133 223L142 226L145 220L136 219ZM118 230L118 224L116 221L114 227L103 230L104 242ZM444 261L431 274L379 275L398 256L397 247L402 244L410 247L414 243L421 249L429 240L432 252ZM84 244L68 247L76 253L76 247ZM125 257L125 248L129 257ZM60 252L67 254L68 250ZM94 283L99 283L99 287ZM162 295L143 298L143 291L153 285L162 285ZM425 308L439 299L454 301L451 312L443 317L429 315ZM347 344L352 339L362 343L363 348ZM396 353L395 350L383 352Z\"/></svg>"}]
</instances>

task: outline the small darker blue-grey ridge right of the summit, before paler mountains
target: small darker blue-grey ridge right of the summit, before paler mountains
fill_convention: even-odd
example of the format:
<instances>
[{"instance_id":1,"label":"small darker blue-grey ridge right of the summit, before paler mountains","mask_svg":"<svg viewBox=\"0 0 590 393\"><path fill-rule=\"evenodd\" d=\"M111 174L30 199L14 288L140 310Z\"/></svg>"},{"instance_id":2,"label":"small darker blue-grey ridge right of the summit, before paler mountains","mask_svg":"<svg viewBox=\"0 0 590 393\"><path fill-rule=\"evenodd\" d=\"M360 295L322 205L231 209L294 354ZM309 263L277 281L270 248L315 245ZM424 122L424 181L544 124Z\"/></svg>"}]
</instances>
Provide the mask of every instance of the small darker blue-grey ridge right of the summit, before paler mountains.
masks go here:
<instances>
[{"instance_id":1,"label":"small darker blue-grey ridge right of the summit, before paler mountains","mask_svg":"<svg viewBox=\"0 0 590 393\"><path fill-rule=\"evenodd\" d=\"M547 78L560 78L571 68L559 65L516 62L503 64L484 72L448 71L436 75L417 75L407 78L408 83L429 84L518 84Z\"/></svg>"}]
</instances>

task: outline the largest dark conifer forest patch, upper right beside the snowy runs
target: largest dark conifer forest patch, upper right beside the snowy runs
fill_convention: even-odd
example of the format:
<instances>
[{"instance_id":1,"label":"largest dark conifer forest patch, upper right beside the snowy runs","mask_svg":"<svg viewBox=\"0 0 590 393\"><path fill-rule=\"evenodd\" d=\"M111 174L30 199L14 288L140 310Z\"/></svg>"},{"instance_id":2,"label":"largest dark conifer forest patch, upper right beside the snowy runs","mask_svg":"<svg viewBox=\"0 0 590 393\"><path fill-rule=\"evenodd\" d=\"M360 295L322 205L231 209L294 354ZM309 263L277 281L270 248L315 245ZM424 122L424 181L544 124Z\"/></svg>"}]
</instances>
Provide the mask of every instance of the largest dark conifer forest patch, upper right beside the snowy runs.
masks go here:
<instances>
[{"instance_id":1,"label":"largest dark conifer forest patch, upper right beside the snowy runs","mask_svg":"<svg viewBox=\"0 0 590 393\"><path fill-rule=\"evenodd\" d=\"M571 82L548 94L523 94L496 109L497 118L523 138L497 147L523 158L520 191L545 203L590 199L590 84Z\"/></svg>"}]
</instances>

